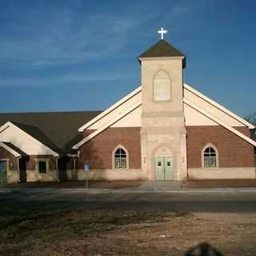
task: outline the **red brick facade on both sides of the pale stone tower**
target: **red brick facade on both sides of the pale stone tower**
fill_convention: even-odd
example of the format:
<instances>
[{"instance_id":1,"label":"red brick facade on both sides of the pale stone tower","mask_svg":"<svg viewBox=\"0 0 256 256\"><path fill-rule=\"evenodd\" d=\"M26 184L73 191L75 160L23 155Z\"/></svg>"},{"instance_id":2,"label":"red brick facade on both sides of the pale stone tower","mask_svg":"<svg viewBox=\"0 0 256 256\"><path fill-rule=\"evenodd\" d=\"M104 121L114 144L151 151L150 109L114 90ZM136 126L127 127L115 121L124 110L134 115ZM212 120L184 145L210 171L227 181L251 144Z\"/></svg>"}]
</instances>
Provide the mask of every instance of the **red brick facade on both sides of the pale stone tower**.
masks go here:
<instances>
[{"instance_id":1,"label":"red brick facade on both sides of the pale stone tower","mask_svg":"<svg viewBox=\"0 0 256 256\"><path fill-rule=\"evenodd\" d=\"M246 127L234 127L250 137ZM219 167L254 167L254 146L226 130L222 126L186 126L188 168L202 167L202 148L207 143L217 147ZM86 130L84 137L93 130ZM112 153L121 144L129 152L130 169L141 168L140 128L109 128L98 134L80 149L77 168L85 162L90 169L112 169ZM70 161L70 167L73 161Z\"/></svg>"}]
</instances>

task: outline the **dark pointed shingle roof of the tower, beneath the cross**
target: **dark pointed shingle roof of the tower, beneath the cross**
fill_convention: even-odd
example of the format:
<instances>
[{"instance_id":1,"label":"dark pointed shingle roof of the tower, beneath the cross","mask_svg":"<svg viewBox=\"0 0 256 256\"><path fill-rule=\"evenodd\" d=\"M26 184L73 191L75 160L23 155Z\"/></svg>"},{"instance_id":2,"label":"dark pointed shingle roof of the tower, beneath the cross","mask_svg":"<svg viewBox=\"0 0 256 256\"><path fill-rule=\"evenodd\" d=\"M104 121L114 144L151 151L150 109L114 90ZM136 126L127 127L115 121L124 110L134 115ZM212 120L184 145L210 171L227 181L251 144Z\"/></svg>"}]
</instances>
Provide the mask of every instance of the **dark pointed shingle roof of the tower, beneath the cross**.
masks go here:
<instances>
[{"instance_id":1,"label":"dark pointed shingle roof of the tower, beneath the cross","mask_svg":"<svg viewBox=\"0 0 256 256\"><path fill-rule=\"evenodd\" d=\"M138 58L154 58L154 57L185 57L179 50L170 45L166 40L159 40L146 50Z\"/></svg>"}]
</instances>

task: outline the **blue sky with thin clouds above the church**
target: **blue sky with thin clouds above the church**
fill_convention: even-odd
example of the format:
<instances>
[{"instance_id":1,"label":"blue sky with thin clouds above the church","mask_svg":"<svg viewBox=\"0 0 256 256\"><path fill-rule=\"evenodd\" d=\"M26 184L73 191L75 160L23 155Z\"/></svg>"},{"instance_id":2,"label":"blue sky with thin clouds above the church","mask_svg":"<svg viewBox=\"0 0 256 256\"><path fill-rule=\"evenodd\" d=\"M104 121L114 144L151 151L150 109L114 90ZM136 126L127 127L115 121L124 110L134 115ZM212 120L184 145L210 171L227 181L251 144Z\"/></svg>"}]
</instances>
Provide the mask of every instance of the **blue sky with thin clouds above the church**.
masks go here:
<instances>
[{"instance_id":1,"label":"blue sky with thin clouds above the church","mask_svg":"<svg viewBox=\"0 0 256 256\"><path fill-rule=\"evenodd\" d=\"M1 0L0 112L104 110L140 84L137 57L166 40L185 82L230 110L256 110L253 0Z\"/></svg>"}]
</instances>

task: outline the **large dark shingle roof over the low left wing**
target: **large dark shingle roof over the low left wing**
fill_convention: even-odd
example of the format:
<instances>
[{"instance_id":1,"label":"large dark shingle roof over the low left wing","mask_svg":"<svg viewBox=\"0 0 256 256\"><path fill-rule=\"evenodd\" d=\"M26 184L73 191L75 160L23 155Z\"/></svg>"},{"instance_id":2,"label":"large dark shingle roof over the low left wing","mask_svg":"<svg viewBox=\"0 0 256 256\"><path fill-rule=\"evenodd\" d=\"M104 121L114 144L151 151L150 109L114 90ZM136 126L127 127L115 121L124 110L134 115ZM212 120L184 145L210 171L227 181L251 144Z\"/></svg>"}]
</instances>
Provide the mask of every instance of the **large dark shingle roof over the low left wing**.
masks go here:
<instances>
[{"instance_id":1,"label":"large dark shingle roof over the low left wing","mask_svg":"<svg viewBox=\"0 0 256 256\"><path fill-rule=\"evenodd\" d=\"M5 113L0 114L0 126L6 122L24 130L59 154L72 152L71 147L82 139L78 128L101 111Z\"/></svg>"}]
</instances>

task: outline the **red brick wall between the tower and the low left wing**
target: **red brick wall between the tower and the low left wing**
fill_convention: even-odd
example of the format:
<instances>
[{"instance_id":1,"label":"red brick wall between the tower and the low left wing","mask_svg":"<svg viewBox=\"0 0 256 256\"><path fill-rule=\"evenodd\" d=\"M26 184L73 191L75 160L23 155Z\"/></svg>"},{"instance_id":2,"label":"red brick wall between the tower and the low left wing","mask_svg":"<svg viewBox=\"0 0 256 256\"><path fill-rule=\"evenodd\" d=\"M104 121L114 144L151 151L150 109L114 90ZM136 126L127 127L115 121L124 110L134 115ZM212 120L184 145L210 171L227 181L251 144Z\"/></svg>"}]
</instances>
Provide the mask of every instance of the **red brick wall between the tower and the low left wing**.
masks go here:
<instances>
[{"instance_id":1,"label":"red brick wall between the tower and the low left wing","mask_svg":"<svg viewBox=\"0 0 256 256\"><path fill-rule=\"evenodd\" d=\"M84 135L86 136L87 134L85 133ZM111 169L112 152L119 144L125 146L128 150L130 169L140 169L140 127L114 127L98 134L81 147L77 168L83 169L84 163L89 162L90 169Z\"/></svg>"}]
</instances>

